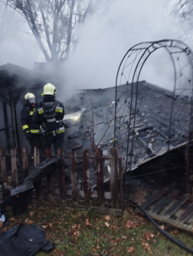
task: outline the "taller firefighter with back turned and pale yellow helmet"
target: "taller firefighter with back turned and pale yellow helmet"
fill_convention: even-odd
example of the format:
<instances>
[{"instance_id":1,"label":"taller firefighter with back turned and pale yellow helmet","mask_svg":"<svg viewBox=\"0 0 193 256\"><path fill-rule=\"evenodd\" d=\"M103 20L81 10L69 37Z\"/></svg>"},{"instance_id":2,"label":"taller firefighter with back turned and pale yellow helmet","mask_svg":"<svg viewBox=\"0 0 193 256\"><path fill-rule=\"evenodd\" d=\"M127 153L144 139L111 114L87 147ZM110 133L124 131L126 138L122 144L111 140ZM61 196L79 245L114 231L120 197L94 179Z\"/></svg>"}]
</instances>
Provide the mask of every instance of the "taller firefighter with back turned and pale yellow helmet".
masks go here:
<instances>
[{"instance_id":1,"label":"taller firefighter with back turned and pale yellow helmet","mask_svg":"<svg viewBox=\"0 0 193 256\"><path fill-rule=\"evenodd\" d=\"M51 149L53 143L57 155L57 149L63 149L64 146L64 105L55 100L56 87L53 84L45 84L41 95L44 97L34 113L34 121L42 127L46 148Z\"/></svg>"}]
</instances>

